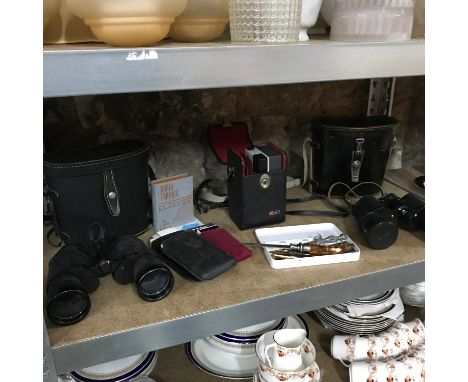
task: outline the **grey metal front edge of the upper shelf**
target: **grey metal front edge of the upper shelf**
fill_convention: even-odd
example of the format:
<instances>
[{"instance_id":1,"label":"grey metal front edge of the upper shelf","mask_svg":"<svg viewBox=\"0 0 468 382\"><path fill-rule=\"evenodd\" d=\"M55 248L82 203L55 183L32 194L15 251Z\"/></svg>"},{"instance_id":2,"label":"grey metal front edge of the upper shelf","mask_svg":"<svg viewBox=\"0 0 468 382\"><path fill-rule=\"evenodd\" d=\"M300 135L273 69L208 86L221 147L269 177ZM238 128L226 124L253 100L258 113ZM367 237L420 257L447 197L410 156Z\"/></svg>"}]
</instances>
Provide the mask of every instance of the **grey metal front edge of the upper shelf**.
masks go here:
<instances>
[{"instance_id":1,"label":"grey metal front edge of the upper shelf","mask_svg":"<svg viewBox=\"0 0 468 382\"><path fill-rule=\"evenodd\" d=\"M44 47L44 97L273 85L424 74L424 40L213 42L121 49Z\"/></svg>"}]
</instances>

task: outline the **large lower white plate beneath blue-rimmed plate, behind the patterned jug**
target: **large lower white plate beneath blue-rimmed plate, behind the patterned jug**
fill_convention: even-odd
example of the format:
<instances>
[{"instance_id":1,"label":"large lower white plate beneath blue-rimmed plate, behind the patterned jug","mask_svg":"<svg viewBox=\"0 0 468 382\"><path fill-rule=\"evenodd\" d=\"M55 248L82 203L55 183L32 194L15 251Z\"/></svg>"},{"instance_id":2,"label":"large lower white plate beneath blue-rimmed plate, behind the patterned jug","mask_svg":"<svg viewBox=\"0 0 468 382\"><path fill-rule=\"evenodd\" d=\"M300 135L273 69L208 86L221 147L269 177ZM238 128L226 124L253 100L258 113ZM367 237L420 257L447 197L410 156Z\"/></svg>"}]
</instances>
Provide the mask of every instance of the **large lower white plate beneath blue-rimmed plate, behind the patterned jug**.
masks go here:
<instances>
[{"instance_id":1,"label":"large lower white plate beneath blue-rimmed plate, behind the patterned jug","mask_svg":"<svg viewBox=\"0 0 468 382\"><path fill-rule=\"evenodd\" d=\"M285 328L308 328L299 316L289 316ZM252 379L258 358L255 352L247 355L236 355L225 351L206 339L200 339L186 344L189 359L201 370L217 377L229 379Z\"/></svg>"}]
</instances>

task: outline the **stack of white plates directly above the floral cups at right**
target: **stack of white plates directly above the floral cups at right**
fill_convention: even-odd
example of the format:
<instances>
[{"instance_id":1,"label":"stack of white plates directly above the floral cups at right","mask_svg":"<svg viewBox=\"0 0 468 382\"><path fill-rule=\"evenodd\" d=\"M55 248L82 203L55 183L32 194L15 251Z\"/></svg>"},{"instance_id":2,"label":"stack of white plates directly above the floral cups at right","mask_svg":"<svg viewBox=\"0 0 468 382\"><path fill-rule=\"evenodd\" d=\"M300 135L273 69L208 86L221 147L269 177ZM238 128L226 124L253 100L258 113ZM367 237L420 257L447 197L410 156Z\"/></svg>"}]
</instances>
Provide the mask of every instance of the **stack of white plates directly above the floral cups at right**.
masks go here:
<instances>
[{"instance_id":1,"label":"stack of white plates directly above the floral cups at right","mask_svg":"<svg viewBox=\"0 0 468 382\"><path fill-rule=\"evenodd\" d=\"M379 333L403 319L398 289L351 300L315 311L326 328L347 334Z\"/></svg>"}]
</instances>

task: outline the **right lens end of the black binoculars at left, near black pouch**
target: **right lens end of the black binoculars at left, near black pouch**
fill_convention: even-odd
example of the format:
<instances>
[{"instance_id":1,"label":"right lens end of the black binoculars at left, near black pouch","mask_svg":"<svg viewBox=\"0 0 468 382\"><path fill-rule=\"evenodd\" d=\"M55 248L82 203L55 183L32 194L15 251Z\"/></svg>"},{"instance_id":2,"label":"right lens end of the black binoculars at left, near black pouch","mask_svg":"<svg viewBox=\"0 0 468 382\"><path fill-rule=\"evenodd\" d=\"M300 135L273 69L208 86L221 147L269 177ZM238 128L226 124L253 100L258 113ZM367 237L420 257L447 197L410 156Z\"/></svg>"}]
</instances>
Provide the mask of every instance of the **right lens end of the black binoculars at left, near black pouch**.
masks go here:
<instances>
[{"instance_id":1,"label":"right lens end of the black binoculars at left, near black pouch","mask_svg":"<svg viewBox=\"0 0 468 382\"><path fill-rule=\"evenodd\" d=\"M166 267L152 266L144 270L136 280L138 295L146 301L166 297L174 286L174 276Z\"/></svg>"}]
</instances>

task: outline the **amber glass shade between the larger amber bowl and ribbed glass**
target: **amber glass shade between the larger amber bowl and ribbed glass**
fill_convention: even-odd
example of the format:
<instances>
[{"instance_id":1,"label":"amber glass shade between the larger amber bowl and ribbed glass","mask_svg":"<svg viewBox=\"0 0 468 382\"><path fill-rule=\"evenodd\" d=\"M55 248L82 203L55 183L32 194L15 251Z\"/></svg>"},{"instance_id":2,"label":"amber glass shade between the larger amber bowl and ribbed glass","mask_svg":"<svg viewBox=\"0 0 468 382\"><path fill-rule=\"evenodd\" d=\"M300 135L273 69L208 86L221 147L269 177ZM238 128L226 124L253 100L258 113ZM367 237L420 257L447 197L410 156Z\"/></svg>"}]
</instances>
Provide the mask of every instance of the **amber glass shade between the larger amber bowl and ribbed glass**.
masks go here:
<instances>
[{"instance_id":1,"label":"amber glass shade between the larger amber bowl and ribbed glass","mask_svg":"<svg viewBox=\"0 0 468 382\"><path fill-rule=\"evenodd\" d=\"M229 22L228 0L188 0L169 35L181 42L212 41L221 36Z\"/></svg>"}]
</instances>

